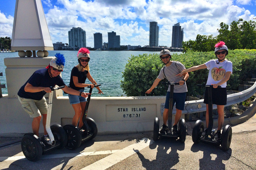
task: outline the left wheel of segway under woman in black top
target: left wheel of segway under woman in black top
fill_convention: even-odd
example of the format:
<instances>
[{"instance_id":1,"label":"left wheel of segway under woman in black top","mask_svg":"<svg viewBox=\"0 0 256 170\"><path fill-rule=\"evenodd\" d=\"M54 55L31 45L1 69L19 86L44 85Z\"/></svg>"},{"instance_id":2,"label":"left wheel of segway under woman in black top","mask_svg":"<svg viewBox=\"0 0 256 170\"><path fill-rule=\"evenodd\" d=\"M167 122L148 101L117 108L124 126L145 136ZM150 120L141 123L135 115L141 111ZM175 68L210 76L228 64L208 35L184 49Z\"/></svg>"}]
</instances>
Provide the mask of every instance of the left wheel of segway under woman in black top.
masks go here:
<instances>
[{"instance_id":1,"label":"left wheel of segway under woman in black top","mask_svg":"<svg viewBox=\"0 0 256 170\"><path fill-rule=\"evenodd\" d=\"M76 149L82 143L82 134L74 125L65 125L63 129L67 133L67 149Z\"/></svg>"}]
</instances>

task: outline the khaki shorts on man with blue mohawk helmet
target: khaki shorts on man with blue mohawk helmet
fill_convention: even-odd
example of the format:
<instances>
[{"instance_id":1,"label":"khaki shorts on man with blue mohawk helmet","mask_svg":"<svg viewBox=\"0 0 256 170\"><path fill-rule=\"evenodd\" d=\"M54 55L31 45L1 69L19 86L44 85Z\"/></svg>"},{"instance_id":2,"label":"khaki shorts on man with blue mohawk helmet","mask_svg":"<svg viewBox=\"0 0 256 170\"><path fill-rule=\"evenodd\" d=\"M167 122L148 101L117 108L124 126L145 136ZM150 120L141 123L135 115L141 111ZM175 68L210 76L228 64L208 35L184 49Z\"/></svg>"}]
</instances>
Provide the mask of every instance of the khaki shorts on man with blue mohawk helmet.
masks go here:
<instances>
[{"instance_id":1,"label":"khaki shorts on man with blue mohawk helmet","mask_svg":"<svg viewBox=\"0 0 256 170\"><path fill-rule=\"evenodd\" d=\"M33 100L18 96L18 99L24 111L26 111L30 117L34 118L41 116L41 114L47 114L48 105L45 97L43 97L41 100Z\"/></svg>"}]
</instances>

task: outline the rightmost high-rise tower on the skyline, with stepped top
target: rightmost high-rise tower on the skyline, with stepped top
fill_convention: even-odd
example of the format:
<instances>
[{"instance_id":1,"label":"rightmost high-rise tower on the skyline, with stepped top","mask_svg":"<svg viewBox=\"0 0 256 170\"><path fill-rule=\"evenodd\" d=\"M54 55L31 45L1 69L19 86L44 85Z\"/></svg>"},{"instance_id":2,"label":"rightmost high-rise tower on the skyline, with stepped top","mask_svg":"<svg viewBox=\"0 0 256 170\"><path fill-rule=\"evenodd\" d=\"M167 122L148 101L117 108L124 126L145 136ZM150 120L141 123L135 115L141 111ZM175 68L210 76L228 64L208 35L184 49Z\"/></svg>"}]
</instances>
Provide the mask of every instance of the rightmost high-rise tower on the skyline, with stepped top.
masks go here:
<instances>
[{"instance_id":1,"label":"rightmost high-rise tower on the skyline, with stepped top","mask_svg":"<svg viewBox=\"0 0 256 170\"><path fill-rule=\"evenodd\" d=\"M172 47L182 48L183 35L184 32L180 23L174 24L172 26Z\"/></svg>"}]
</instances>

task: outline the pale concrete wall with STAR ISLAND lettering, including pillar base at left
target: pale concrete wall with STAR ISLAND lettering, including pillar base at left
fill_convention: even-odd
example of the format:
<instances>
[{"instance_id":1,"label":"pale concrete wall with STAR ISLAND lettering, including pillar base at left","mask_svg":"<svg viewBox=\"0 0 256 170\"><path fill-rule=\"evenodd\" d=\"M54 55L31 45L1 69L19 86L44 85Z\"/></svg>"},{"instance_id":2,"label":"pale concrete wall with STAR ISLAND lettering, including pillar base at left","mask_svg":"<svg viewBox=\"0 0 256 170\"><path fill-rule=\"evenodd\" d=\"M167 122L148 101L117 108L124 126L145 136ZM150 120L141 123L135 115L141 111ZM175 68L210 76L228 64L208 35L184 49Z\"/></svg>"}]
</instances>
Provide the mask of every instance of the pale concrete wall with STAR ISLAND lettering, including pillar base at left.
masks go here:
<instances>
[{"instance_id":1,"label":"pale concrete wall with STAR ISLAND lettering, including pillar base at left","mask_svg":"<svg viewBox=\"0 0 256 170\"><path fill-rule=\"evenodd\" d=\"M51 58L4 58L8 95L0 98L0 134L31 132L32 118L23 111L17 92L31 74L45 68ZM165 96L92 97L88 116L97 123L99 134L153 131L154 118L158 116L162 121L163 103ZM73 116L68 97L63 97L62 90L58 90L53 97L51 124L71 124ZM42 121L39 132L43 132Z\"/></svg>"}]
</instances>

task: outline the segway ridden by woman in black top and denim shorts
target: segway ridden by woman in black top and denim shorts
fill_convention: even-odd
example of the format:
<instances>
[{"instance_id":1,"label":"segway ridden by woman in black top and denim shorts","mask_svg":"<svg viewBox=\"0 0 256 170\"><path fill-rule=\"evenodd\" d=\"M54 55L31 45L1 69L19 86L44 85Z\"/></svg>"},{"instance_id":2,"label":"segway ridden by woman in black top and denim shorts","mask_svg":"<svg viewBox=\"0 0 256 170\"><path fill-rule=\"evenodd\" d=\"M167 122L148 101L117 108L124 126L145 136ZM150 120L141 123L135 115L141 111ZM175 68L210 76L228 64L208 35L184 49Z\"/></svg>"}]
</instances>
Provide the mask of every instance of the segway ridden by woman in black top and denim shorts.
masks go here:
<instances>
[{"instance_id":1,"label":"segway ridden by woman in black top and denim shorts","mask_svg":"<svg viewBox=\"0 0 256 170\"><path fill-rule=\"evenodd\" d=\"M101 84L94 85L94 87L99 87L99 86L101 86ZM84 114L83 114L84 125L82 129L78 129L77 126L74 126L72 124L63 126L63 129L65 129L68 135L68 142L66 145L67 149L78 148L82 142L95 138L98 133L98 128L95 121L90 117L86 117L90 100L91 100L92 89L93 89L91 88L91 86L88 86L88 88L90 88L90 91L89 91L90 95L88 95L87 97L87 102L84 109Z\"/></svg>"}]
</instances>

